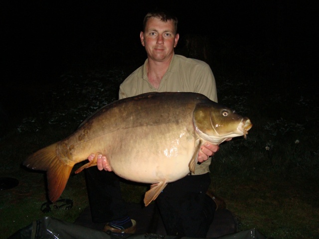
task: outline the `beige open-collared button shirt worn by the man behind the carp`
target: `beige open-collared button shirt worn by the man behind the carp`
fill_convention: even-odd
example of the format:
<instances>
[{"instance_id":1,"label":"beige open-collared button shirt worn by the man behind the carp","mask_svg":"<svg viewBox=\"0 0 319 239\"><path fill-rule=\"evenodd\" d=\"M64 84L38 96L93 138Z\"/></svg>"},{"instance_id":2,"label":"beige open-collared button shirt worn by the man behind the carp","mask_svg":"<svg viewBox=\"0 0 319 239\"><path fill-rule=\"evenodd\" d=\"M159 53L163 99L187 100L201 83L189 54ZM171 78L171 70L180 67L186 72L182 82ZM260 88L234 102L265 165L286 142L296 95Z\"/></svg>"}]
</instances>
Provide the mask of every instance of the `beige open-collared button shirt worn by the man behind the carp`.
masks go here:
<instances>
[{"instance_id":1,"label":"beige open-collared button shirt worn by the man behind the carp","mask_svg":"<svg viewBox=\"0 0 319 239\"><path fill-rule=\"evenodd\" d=\"M148 78L148 59L120 85L119 99L148 92L194 92L217 102L214 75L209 65L203 61L174 55L168 70L160 81L159 89L153 87ZM209 172L211 158L195 167L196 174Z\"/></svg>"}]
</instances>

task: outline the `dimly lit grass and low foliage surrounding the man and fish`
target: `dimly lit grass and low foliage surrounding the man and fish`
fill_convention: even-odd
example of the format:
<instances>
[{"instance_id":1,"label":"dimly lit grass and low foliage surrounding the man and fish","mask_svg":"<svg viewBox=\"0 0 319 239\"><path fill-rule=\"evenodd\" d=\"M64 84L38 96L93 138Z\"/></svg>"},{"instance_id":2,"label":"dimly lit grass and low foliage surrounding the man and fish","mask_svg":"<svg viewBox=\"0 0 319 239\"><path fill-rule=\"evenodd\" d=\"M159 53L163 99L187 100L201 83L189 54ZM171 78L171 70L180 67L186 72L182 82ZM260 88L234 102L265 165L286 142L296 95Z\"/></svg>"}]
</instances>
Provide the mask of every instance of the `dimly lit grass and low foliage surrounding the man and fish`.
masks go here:
<instances>
[{"instance_id":1,"label":"dimly lit grass and low foliage surrounding the man and fish","mask_svg":"<svg viewBox=\"0 0 319 239\"><path fill-rule=\"evenodd\" d=\"M70 70L55 79L57 84L29 89L27 100L19 102L19 113L9 112L12 117L3 119L0 174L18 179L19 185L0 192L4 219L0 238L43 216L74 222L88 206L81 173L70 177L62 194L73 200L73 208L42 213L40 207L47 200L45 174L20 165L31 152L69 135L87 116L116 100L118 86L130 72ZM319 108L315 97L303 84L294 89L276 82L280 76L244 77L234 72L214 71L219 102L248 116L254 126L246 140L236 138L220 146L211 164L212 189L225 199L239 231L256 228L275 239L318 238L319 140L314 132ZM123 182L122 190L127 201L141 202L147 187Z\"/></svg>"}]
</instances>

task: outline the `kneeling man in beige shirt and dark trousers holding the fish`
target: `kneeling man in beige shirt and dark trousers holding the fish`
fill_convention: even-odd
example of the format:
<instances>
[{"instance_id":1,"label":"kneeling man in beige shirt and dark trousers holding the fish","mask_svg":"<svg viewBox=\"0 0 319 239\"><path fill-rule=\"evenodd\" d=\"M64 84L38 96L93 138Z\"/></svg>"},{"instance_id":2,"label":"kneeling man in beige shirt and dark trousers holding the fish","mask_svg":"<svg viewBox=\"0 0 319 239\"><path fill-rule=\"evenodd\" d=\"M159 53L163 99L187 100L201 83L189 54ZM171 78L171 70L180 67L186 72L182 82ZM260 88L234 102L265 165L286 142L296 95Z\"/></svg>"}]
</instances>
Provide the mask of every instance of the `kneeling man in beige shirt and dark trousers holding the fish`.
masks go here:
<instances>
[{"instance_id":1,"label":"kneeling man in beige shirt and dark trousers holding the fish","mask_svg":"<svg viewBox=\"0 0 319 239\"><path fill-rule=\"evenodd\" d=\"M177 18L164 12L151 12L144 18L141 43L148 59L120 86L119 99L147 92L195 92L217 102L217 92L210 67L199 60L174 54L179 34ZM207 196L210 184L209 156L217 145L201 146L194 175L169 183L156 200L167 235L206 237L218 202ZM95 157L89 156L89 160ZM97 155L98 169L112 171L107 158ZM134 233L136 222L125 210L119 181L113 173L87 170L87 185L94 222L108 223L104 230ZM103 183L102 183L103 182Z\"/></svg>"}]
</instances>

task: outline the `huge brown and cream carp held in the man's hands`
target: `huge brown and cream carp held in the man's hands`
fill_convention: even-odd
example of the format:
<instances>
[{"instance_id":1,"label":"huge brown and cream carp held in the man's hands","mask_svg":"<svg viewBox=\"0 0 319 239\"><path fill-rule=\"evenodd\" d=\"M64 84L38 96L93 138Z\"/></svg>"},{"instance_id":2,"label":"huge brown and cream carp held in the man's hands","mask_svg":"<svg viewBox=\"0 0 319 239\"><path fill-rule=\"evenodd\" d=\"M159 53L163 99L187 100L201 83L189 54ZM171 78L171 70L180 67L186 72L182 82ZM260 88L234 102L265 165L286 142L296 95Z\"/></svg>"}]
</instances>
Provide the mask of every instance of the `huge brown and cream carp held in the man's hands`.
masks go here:
<instances>
[{"instance_id":1,"label":"huge brown and cream carp held in the man's hands","mask_svg":"<svg viewBox=\"0 0 319 239\"><path fill-rule=\"evenodd\" d=\"M200 146L220 144L252 127L241 117L197 93L147 93L111 103L86 119L67 138L30 155L24 165L47 171L48 196L62 194L74 164L91 153L106 155L120 177L153 184L145 205L167 183L194 172ZM96 161L88 166L96 165Z\"/></svg>"}]
</instances>

